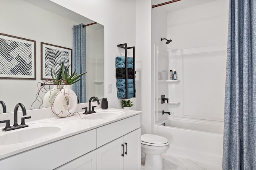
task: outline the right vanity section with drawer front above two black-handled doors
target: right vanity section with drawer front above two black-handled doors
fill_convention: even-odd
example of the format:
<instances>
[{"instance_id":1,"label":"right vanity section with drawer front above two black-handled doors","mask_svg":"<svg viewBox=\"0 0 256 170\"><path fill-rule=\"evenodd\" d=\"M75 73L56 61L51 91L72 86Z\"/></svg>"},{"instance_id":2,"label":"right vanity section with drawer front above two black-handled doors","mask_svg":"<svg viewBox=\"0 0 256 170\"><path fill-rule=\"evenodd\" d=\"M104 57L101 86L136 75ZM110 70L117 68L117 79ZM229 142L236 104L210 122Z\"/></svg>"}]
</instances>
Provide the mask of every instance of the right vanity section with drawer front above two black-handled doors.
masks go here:
<instances>
[{"instance_id":1,"label":"right vanity section with drawer front above two black-handled doors","mask_svg":"<svg viewBox=\"0 0 256 170\"><path fill-rule=\"evenodd\" d=\"M140 170L140 115L97 128L96 132L97 170Z\"/></svg>"}]
</instances>

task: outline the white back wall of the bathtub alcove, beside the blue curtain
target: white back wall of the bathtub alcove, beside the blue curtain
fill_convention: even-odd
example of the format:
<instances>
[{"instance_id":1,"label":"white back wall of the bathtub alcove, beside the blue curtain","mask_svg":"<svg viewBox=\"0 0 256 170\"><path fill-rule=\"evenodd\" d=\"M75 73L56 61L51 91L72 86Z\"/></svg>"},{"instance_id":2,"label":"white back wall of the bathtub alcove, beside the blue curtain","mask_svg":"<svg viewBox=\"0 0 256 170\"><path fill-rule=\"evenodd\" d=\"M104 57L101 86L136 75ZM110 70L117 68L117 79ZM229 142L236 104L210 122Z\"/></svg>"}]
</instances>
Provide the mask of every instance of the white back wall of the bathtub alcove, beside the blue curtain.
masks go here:
<instances>
[{"instance_id":1,"label":"white back wall of the bathtub alcove, beside the blue curtain","mask_svg":"<svg viewBox=\"0 0 256 170\"><path fill-rule=\"evenodd\" d=\"M169 91L181 101L172 115L223 121L228 0L169 12L167 25L169 67L181 79Z\"/></svg>"}]
</instances>

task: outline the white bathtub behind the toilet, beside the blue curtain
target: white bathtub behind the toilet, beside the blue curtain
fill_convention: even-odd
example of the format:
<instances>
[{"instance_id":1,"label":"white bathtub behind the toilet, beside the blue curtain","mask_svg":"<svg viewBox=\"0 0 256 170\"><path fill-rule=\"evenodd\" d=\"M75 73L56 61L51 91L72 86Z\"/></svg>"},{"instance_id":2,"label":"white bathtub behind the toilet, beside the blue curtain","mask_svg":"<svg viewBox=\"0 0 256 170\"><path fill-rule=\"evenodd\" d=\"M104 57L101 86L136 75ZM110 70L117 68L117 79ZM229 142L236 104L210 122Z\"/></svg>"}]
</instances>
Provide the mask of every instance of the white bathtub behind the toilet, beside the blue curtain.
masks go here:
<instances>
[{"instance_id":1,"label":"white bathtub behind the toilet, beside the blue curtain","mask_svg":"<svg viewBox=\"0 0 256 170\"><path fill-rule=\"evenodd\" d=\"M154 126L154 134L170 141L166 153L222 166L223 122L170 117Z\"/></svg>"}]
</instances>

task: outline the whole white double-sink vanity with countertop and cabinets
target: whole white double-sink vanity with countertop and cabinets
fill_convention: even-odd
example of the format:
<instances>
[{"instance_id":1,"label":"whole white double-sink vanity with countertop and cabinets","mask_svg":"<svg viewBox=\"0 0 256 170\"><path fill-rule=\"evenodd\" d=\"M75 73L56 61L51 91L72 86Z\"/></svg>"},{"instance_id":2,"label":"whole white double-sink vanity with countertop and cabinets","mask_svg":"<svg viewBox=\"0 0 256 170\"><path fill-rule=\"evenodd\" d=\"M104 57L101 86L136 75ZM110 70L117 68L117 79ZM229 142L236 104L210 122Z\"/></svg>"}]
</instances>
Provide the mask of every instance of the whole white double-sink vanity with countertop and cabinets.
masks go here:
<instances>
[{"instance_id":1,"label":"whole white double-sink vanity with countertop and cabinets","mask_svg":"<svg viewBox=\"0 0 256 170\"><path fill-rule=\"evenodd\" d=\"M94 103L94 102L92 102ZM5 170L140 169L140 111L99 109L60 118L51 108L27 111L28 127L0 131L0 167ZM96 104L95 104L96 105ZM18 123L22 113L18 112ZM13 113L0 114L0 120ZM4 123L0 128L4 128Z\"/></svg>"}]
</instances>

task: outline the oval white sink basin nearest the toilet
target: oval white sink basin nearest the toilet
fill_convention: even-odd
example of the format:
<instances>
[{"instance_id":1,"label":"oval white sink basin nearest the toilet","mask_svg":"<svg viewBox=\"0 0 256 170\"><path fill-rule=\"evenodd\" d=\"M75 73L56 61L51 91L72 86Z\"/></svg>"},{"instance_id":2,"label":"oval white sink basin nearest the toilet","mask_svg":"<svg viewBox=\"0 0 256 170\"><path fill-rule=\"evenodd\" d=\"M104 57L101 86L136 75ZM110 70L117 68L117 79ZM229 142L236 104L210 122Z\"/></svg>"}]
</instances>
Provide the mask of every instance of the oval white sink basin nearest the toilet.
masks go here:
<instances>
[{"instance_id":1,"label":"oval white sink basin nearest the toilet","mask_svg":"<svg viewBox=\"0 0 256 170\"><path fill-rule=\"evenodd\" d=\"M95 120L95 119L111 119L114 117L118 117L123 115L123 111L116 110L100 110L96 111L96 113L92 113L89 115L84 115L84 119Z\"/></svg>"}]
</instances>

